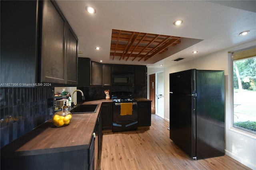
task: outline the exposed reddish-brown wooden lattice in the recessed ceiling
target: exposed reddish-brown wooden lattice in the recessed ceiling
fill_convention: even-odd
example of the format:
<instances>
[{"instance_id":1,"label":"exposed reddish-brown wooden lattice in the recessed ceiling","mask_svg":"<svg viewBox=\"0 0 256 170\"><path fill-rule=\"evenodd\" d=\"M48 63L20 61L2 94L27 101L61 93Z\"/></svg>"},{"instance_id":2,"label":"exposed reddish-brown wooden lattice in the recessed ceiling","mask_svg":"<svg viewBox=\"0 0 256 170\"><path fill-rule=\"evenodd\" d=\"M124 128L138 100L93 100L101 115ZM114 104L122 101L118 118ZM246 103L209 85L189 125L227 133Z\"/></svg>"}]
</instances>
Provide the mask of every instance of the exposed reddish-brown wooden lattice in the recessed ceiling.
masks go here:
<instances>
[{"instance_id":1,"label":"exposed reddish-brown wooden lattice in the recessed ceiling","mask_svg":"<svg viewBox=\"0 0 256 170\"><path fill-rule=\"evenodd\" d=\"M112 29L110 57L144 61L181 43L182 37ZM143 61L142 60L142 61Z\"/></svg>"}]
</instances>

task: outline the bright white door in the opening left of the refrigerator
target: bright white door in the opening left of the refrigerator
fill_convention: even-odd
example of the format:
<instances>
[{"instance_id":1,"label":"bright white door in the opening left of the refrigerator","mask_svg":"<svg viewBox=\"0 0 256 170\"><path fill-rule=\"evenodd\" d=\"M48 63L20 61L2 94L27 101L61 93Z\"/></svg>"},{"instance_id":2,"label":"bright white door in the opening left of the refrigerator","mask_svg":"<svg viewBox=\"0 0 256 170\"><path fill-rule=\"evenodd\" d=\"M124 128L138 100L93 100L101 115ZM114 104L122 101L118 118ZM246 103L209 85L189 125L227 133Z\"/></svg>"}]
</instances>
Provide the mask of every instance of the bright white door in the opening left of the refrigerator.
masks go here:
<instances>
[{"instance_id":1,"label":"bright white door in the opening left of the refrigerator","mask_svg":"<svg viewBox=\"0 0 256 170\"><path fill-rule=\"evenodd\" d=\"M156 115L164 118L164 72L156 73Z\"/></svg>"}]
</instances>

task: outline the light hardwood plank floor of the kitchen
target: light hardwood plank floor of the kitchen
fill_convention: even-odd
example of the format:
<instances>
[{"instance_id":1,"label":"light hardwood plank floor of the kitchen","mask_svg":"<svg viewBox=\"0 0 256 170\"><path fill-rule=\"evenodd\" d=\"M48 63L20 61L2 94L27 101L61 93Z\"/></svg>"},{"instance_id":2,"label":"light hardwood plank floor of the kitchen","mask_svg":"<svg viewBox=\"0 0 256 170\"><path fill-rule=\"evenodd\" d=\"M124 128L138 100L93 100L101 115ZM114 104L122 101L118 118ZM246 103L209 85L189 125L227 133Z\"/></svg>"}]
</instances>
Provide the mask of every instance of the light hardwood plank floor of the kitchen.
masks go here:
<instances>
[{"instance_id":1,"label":"light hardwood plank floor of the kitchen","mask_svg":"<svg viewBox=\"0 0 256 170\"><path fill-rule=\"evenodd\" d=\"M192 160L169 138L169 122L152 114L150 129L104 133L96 170L249 170L224 155Z\"/></svg>"}]
</instances>

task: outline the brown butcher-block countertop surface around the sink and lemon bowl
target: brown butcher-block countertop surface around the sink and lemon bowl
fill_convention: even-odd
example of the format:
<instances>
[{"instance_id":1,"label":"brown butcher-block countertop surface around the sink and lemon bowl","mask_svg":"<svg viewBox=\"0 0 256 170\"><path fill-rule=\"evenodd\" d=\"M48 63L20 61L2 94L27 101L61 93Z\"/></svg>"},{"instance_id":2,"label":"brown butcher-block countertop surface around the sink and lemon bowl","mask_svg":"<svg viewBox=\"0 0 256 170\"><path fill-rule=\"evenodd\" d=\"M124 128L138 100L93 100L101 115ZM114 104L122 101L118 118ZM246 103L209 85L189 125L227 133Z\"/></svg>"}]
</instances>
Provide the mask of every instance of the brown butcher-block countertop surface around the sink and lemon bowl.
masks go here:
<instances>
[{"instance_id":1,"label":"brown butcher-block countertop surface around the sink and lemon bowl","mask_svg":"<svg viewBox=\"0 0 256 170\"><path fill-rule=\"evenodd\" d=\"M1 156L25 156L88 148L102 102L112 100L84 102L83 104L99 104L96 113L72 114L70 124L64 127L54 126L51 119L3 147Z\"/></svg>"}]
</instances>

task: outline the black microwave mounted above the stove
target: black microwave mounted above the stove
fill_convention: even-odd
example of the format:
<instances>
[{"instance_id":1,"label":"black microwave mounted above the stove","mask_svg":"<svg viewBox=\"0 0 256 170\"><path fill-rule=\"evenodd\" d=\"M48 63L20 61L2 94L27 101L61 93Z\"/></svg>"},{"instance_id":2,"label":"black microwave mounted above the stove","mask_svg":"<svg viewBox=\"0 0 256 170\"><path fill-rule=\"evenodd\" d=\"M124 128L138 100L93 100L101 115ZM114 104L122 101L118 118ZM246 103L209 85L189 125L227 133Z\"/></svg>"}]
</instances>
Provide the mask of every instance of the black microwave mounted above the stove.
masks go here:
<instances>
[{"instance_id":1,"label":"black microwave mounted above the stove","mask_svg":"<svg viewBox=\"0 0 256 170\"><path fill-rule=\"evenodd\" d=\"M112 86L134 86L134 74L113 73Z\"/></svg>"}]
</instances>

